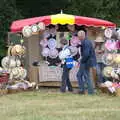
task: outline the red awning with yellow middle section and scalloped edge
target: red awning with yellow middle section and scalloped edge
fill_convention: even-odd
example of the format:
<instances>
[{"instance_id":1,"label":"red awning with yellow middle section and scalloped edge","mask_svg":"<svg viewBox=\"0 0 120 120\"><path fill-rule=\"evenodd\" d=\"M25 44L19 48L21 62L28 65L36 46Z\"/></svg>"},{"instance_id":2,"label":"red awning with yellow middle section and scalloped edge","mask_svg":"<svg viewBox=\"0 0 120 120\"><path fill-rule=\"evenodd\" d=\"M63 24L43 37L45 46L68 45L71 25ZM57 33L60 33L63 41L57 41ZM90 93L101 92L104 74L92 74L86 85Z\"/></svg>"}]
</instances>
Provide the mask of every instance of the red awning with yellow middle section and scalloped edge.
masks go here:
<instances>
[{"instance_id":1,"label":"red awning with yellow middle section and scalloped edge","mask_svg":"<svg viewBox=\"0 0 120 120\"><path fill-rule=\"evenodd\" d=\"M41 16L41 17L34 17L34 18L13 21L10 30L11 32L20 32L24 26L33 25L39 22L44 22L45 25L76 24L76 25L95 26L95 27L102 27L102 26L116 27L115 23L102 19L74 16L69 14L56 14L50 16Z\"/></svg>"}]
</instances>

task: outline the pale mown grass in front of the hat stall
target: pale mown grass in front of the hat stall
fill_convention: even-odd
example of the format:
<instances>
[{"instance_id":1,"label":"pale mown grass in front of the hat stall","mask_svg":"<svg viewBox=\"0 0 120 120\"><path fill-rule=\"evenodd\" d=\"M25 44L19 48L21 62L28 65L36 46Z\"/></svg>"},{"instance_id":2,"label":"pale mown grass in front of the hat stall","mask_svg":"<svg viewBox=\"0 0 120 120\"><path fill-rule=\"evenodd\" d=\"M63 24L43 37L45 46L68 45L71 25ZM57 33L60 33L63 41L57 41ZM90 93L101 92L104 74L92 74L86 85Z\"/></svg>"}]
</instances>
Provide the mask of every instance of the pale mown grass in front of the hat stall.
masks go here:
<instances>
[{"instance_id":1,"label":"pale mown grass in front of the hat stall","mask_svg":"<svg viewBox=\"0 0 120 120\"><path fill-rule=\"evenodd\" d=\"M50 90L0 97L0 120L119 120L120 97Z\"/></svg>"}]
</instances>

